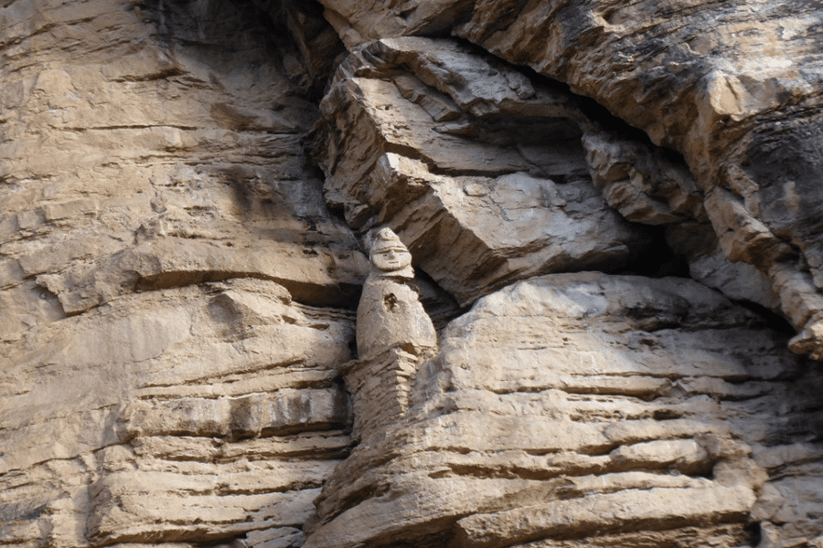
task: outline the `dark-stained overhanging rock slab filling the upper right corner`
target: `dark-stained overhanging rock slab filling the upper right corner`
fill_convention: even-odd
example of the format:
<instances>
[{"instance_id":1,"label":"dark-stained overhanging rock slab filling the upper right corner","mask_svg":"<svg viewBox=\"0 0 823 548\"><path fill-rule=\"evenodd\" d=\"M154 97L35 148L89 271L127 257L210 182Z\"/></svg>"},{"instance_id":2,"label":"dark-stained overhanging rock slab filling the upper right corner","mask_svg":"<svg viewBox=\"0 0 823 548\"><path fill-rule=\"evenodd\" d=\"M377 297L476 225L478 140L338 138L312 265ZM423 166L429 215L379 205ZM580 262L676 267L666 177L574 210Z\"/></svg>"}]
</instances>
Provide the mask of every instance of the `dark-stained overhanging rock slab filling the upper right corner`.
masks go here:
<instances>
[{"instance_id":1,"label":"dark-stained overhanging rock slab filling the upper right corner","mask_svg":"<svg viewBox=\"0 0 823 548\"><path fill-rule=\"evenodd\" d=\"M818 2L322 1L350 48L451 32L678 150L726 258L769 277L793 350L823 356Z\"/></svg>"}]
</instances>

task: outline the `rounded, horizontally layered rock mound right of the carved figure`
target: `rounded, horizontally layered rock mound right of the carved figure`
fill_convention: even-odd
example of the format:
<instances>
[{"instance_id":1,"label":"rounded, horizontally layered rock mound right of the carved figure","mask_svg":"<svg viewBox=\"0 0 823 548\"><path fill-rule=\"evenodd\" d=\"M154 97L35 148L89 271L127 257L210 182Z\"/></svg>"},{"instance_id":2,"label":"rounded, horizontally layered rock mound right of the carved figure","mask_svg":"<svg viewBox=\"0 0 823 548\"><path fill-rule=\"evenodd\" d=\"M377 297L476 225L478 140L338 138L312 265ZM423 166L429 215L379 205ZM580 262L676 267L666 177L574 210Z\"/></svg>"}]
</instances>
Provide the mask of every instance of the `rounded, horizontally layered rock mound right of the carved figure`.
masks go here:
<instances>
[{"instance_id":1,"label":"rounded, horizontally layered rock mound right of the carved figure","mask_svg":"<svg viewBox=\"0 0 823 548\"><path fill-rule=\"evenodd\" d=\"M405 418L326 483L305 546L731 548L752 521L816 538L823 371L785 344L693 281L518 282L449 325Z\"/></svg>"}]
</instances>

